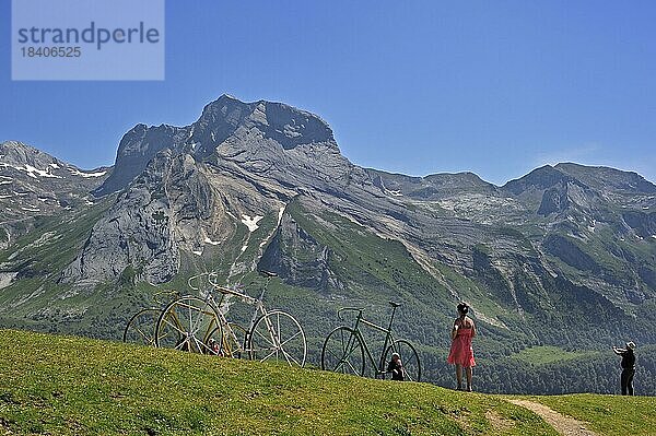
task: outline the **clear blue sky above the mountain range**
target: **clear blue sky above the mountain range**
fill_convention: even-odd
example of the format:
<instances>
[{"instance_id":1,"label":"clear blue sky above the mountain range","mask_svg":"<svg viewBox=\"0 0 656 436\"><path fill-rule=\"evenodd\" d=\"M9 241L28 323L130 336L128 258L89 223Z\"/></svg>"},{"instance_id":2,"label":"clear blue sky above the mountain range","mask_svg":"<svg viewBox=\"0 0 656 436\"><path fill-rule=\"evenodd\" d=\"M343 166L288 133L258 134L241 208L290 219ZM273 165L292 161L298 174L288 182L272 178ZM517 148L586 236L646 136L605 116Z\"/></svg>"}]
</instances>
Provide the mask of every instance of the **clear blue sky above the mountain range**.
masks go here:
<instances>
[{"instance_id":1,"label":"clear blue sky above the mountain range","mask_svg":"<svg viewBox=\"0 0 656 436\"><path fill-rule=\"evenodd\" d=\"M320 115L362 166L503 184L571 161L656 181L653 1L168 0L163 82L12 82L8 0L0 17L0 141L82 167L229 93Z\"/></svg>"}]
</instances>

